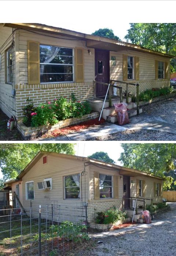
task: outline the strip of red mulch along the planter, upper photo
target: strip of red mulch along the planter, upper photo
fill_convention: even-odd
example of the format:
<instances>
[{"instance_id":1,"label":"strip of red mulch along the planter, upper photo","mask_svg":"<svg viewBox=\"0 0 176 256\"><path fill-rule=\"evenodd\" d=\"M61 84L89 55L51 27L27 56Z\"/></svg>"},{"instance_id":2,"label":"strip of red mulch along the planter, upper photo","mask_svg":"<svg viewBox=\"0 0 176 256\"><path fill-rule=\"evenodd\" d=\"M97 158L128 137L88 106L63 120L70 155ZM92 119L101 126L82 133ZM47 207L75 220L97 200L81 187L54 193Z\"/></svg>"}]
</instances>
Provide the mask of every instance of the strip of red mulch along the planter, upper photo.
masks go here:
<instances>
[{"instance_id":1,"label":"strip of red mulch along the planter, upper photo","mask_svg":"<svg viewBox=\"0 0 176 256\"><path fill-rule=\"evenodd\" d=\"M91 120L82 122L77 125L72 125L72 126L69 126L66 128L62 128L62 129L55 129L54 131L44 134L42 136L42 138L57 137L57 136L69 134L70 132L78 132L78 131L81 131L82 129L86 129L86 128L94 126L94 125L103 124L104 122L105 122L105 120L103 118L101 118L100 121L98 120L98 118L91 119Z\"/></svg>"}]
</instances>

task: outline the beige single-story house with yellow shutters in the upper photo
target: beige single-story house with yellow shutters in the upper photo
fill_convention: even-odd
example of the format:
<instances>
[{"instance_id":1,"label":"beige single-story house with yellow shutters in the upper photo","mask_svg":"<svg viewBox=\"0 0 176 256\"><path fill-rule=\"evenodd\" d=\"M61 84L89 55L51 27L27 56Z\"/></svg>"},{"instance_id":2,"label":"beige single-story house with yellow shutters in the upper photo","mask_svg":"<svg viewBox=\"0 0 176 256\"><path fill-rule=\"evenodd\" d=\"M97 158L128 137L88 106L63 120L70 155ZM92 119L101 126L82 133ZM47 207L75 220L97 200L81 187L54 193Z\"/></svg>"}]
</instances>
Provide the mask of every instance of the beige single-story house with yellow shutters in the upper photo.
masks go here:
<instances>
[{"instance_id":1,"label":"beige single-story house with yellow shutters in the upper photo","mask_svg":"<svg viewBox=\"0 0 176 256\"><path fill-rule=\"evenodd\" d=\"M37 106L59 96L69 99L71 93L81 101L103 97L107 86L101 82L110 79L139 83L140 91L169 86L170 58L132 43L43 24L0 24L0 108L21 120L28 98ZM135 94L135 86L129 92Z\"/></svg>"}]
</instances>

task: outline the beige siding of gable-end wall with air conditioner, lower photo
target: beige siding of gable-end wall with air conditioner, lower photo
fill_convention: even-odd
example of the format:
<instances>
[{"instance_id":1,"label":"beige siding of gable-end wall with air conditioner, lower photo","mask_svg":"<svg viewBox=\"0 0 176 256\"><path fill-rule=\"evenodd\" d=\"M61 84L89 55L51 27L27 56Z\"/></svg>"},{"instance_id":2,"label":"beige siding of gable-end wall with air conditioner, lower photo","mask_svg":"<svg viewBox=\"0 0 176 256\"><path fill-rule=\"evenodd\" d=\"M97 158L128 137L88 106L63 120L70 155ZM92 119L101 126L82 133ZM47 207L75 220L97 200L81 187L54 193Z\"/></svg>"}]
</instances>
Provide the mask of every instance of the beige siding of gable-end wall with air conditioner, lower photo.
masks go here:
<instances>
[{"instance_id":1,"label":"beige siding of gable-end wall with air conditioner, lower photo","mask_svg":"<svg viewBox=\"0 0 176 256\"><path fill-rule=\"evenodd\" d=\"M68 158L53 156L48 154L47 164L43 164L43 157L28 171L23 180L23 206L29 207L30 200L26 200L25 183L27 181L34 181L34 200L32 202L38 205L47 205L51 202L58 202L66 205L76 205L81 202L81 199L64 199L63 177L66 175L80 174L80 181L82 180L82 198L83 202L87 201L88 191L88 174L81 175L84 170L84 164L79 160L70 160ZM86 167L88 173L88 167ZM38 190L37 182L43 181L44 178L52 178L52 189ZM86 191L86 195L85 195Z\"/></svg>"}]
</instances>

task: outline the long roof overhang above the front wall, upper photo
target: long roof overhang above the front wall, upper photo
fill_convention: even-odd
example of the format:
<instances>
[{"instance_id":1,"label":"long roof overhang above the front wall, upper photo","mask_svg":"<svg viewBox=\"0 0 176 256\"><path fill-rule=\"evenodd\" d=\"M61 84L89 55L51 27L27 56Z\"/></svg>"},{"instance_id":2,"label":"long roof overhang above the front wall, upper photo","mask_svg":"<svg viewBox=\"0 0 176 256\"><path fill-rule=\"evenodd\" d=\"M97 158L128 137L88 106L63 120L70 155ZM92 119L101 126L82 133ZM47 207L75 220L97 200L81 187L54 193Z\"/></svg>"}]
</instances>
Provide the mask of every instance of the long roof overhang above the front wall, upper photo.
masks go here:
<instances>
[{"instance_id":1,"label":"long roof overhang above the front wall, upper photo","mask_svg":"<svg viewBox=\"0 0 176 256\"><path fill-rule=\"evenodd\" d=\"M75 39L82 39L86 41L87 47L103 49L103 50L110 50L110 51L120 51L124 49L130 49L140 52L145 52L149 54L154 54L157 56L162 56L166 58L176 58L175 56L160 53L158 51L153 51L139 45L134 45L132 43L122 42L115 39L105 38L102 36L94 36L88 35L85 33L80 33L76 31L72 31L69 29L57 28L53 26L48 26L44 24L38 23L4 23L4 26L11 27L11 28L21 28L27 29L29 31L38 31L43 33L55 34L55 35L62 35L68 36Z\"/></svg>"}]
</instances>

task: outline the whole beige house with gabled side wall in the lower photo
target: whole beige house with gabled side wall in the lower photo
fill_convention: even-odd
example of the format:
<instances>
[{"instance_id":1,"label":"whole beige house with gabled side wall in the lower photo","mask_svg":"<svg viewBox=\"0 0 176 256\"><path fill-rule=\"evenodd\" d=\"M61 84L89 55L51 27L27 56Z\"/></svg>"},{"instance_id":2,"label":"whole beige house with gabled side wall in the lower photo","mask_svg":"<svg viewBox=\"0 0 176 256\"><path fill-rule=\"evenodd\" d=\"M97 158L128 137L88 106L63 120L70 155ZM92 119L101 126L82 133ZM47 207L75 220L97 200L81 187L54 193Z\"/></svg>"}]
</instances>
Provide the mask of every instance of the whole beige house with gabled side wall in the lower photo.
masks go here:
<instances>
[{"instance_id":1,"label":"whole beige house with gabled side wall in the lower photo","mask_svg":"<svg viewBox=\"0 0 176 256\"><path fill-rule=\"evenodd\" d=\"M88 221L92 222L98 211L113 206L133 208L133 200L128 198L146 199L147 204L150 199L162 202L162 182L163 178L150 173L88 157L39 152L16 180L4 185L18 193L26 211L32 205L37 212L39 205L52 202L69 211L69 207L87 203Z\"/></svg>"}]
</instances>

